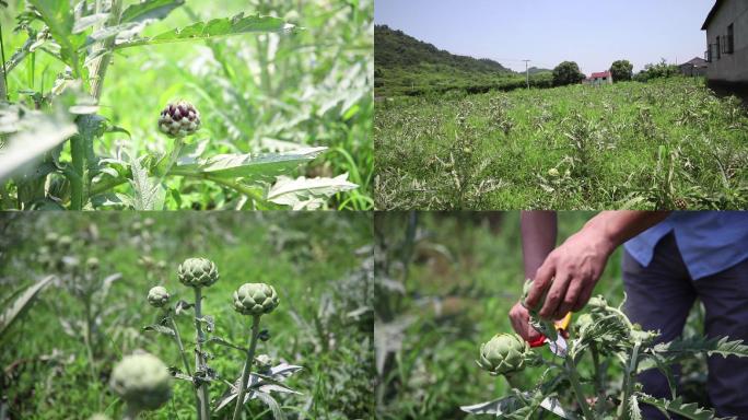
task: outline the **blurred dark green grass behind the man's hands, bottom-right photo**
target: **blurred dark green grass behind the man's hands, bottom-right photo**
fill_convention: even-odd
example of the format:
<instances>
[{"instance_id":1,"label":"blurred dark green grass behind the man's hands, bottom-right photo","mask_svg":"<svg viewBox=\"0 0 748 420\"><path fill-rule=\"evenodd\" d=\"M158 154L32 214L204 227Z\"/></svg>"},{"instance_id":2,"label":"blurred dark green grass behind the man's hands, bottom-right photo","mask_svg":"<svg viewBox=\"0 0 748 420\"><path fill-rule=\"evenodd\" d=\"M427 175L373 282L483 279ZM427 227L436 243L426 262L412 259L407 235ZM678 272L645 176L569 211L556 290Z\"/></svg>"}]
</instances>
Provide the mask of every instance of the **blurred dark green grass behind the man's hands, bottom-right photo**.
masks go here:
<instances>
[{"instance_id":1,"label":"blurred dark green grass behind the man's hands, bottom-right photo","mask_svg":"<svg viewBox=\"0 0 748 420\"><path fill-rule=\"evenodd\" d=\"M561 212L559 241L593 214ZM466 418L460 406L509 392L503 377L490 376L475 360L481 342L512 331L507 314L524 280L518 212L422 212L410 242L408 226L405 212L375 217L377 412L382 419ZM617 250L594 293L616 305L623 299L620 261ZM700 311L697 305L686 336L701 329ZM542 352L551 355L547 347ZM592 371L588 359L580 364L585 376ZM517 373L517 387L537 384L541 371ZM682 374L683 397L702 406L704 372L701 359L685 365ZM608 374L620 385L617 366Z\"/></svg>"}]
</instances>

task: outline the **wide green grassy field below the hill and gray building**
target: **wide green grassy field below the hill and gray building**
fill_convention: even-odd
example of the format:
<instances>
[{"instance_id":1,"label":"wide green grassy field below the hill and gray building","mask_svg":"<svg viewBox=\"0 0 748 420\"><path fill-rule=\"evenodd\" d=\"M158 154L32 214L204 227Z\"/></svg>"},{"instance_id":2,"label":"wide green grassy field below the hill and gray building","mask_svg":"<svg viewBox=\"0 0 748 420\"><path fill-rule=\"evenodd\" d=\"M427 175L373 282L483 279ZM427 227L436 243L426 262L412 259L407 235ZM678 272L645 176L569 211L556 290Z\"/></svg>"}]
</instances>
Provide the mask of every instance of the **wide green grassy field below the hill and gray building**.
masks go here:
<instances>
[{"instance_id":1,"label":"wide green grassy field below the hill and gray building","mask_svg":"<svg viewBox=\"0 0 748 420\"><path fill-rule=\"evenodd\" d=\"M748 114L698 79L389 97L376 208L740 209Z\"/></svg>"}]
</instances>

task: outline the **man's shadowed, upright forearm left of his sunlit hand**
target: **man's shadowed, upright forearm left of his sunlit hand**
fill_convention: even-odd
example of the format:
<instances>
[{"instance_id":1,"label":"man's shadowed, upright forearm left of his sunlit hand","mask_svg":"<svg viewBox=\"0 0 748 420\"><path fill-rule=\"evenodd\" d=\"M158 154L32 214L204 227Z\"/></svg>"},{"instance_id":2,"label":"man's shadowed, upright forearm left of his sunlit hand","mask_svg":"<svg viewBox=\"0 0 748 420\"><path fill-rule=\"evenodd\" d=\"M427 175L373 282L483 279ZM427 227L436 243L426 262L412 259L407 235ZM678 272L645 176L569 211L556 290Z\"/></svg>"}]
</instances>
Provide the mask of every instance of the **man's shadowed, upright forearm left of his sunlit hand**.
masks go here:
<instances>
[{"instance_id":1,"label":"man's shadowed, upright forearm left of his sunlit hand","mask_svg":"<svg viewBox=\"0 0 748 420\"><path fill-rule=\"evenodd\" d=\"M556 248L558 219L556 211L523 211L522 255L525 264L525 278L534 279L535 272Z\"/></svg>"}]
</instances>

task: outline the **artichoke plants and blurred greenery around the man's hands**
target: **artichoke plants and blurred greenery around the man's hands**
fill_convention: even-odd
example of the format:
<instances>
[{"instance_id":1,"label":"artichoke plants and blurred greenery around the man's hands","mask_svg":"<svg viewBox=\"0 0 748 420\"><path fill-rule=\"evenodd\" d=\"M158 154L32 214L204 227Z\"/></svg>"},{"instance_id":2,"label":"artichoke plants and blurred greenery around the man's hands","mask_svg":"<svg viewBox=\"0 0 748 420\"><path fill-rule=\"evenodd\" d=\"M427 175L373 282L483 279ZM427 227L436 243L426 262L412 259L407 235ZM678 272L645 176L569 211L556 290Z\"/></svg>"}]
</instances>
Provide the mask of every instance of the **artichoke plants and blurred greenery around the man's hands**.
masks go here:
<instances>
[{"instance_id":1,"label":"artichoke plants and blurred greenery around the man's hands","mask_svg":"<svg viewBox=\"0 0 748 420\"><path fill-rule=\"evenodd\" d=\"M588 217L561 212L560 237ZM654 345L656 334L642 331L622 312L620 250L597 296L573 314L565 350L530 349L507 316L523 296L517 212L377 213L375 236L376 404L383 419L641 419L645 404L713 419L706 353L748 357L739 341L703 337L701 304L682 339ZM536 325L557 337L554 326ZM671 398L641 392L634 372L675 362L682 370Z\"/></svg>"}]
</instances>

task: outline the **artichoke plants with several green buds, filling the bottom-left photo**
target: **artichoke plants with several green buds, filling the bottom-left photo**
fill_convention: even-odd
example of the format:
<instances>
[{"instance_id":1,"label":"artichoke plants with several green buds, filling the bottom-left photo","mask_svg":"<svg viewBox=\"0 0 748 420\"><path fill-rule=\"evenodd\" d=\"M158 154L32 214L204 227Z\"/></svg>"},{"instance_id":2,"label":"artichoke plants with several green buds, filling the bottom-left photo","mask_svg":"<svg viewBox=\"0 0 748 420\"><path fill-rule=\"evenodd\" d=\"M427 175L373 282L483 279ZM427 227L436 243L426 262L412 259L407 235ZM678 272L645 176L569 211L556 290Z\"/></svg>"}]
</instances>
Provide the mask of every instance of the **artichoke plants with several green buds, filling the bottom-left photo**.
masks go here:
<instances>
[{"instance_id":1,"label":"artichoke plants with several green buds, filling the bottom-left photo","mask_svg":"<svg viewBox=\"0 0 748 420\"><path fill-rule=\"evenodd\" d=\"M371 223L0 214L0 419L372 418Z\"/></svg>"}]
</instances>

